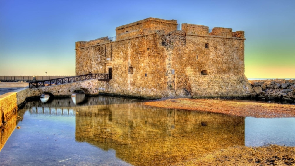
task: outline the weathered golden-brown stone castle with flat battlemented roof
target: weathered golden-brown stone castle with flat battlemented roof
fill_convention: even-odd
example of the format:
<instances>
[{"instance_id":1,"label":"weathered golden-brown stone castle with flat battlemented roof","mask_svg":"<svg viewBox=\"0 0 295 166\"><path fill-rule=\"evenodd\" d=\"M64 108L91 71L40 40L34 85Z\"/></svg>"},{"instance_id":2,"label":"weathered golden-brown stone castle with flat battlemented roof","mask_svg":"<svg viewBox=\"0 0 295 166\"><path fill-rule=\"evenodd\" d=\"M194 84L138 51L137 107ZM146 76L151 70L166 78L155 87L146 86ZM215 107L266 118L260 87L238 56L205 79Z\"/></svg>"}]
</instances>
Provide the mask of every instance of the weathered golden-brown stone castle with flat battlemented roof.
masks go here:
<instances>
[{"instance_id":1,"label":"weathered golden-brown stone castle with flat battlemented roof","mask_svg":"<svg viewBox=\"0 0 295 166\"><path fill-rule=\"evenodd\" d=\"M112 74L100 94L141 98L243 97L244 31L147 18L116 28L116 40L76 42L76 75Z\"/></svg>"}]
</instances>

